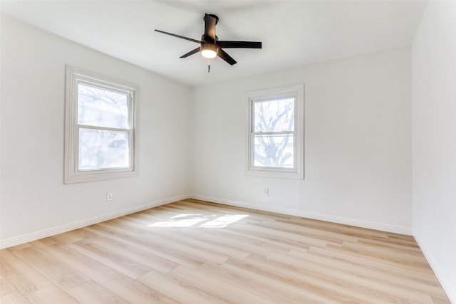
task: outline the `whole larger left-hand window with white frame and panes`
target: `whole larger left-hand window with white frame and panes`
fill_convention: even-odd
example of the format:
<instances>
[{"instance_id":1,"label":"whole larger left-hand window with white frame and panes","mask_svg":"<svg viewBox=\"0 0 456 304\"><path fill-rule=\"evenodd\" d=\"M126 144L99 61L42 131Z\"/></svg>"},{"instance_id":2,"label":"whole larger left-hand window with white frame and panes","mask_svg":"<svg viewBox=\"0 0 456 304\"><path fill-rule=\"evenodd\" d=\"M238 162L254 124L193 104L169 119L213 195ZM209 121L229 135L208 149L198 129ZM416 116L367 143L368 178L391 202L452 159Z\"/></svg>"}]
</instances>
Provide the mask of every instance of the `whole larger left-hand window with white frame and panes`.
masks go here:
<instances>
[{"instance_id":1,"label":"whole larger left-hand window with white frame and panes","mask_svg":"<svg viewBox=\"0 0 456 304\"><path fill-rule=\"evenodd\" d=\"M66 68L65 183L137 175L135 88Z\"/></svg>"}]
</instances>

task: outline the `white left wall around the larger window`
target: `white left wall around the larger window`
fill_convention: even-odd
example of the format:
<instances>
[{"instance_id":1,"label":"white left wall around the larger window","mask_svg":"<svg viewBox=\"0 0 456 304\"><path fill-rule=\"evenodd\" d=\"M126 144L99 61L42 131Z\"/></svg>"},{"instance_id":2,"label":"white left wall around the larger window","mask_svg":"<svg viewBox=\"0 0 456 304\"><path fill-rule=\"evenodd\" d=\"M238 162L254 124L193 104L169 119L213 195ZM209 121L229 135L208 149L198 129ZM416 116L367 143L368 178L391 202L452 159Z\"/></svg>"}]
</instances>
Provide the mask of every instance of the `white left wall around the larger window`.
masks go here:
<instances>
[{"instance_id":1,"label":"white left wall around the larger window","mask_svg":"<svg viewBox=\"0 0 456 304\"><path fill-rule=\"evenodd\" d=\"M3 242L187 196L190 88L1 17ZM66 64L139 86L139 177L63 184Z\"/></svg>"}]
</instances>

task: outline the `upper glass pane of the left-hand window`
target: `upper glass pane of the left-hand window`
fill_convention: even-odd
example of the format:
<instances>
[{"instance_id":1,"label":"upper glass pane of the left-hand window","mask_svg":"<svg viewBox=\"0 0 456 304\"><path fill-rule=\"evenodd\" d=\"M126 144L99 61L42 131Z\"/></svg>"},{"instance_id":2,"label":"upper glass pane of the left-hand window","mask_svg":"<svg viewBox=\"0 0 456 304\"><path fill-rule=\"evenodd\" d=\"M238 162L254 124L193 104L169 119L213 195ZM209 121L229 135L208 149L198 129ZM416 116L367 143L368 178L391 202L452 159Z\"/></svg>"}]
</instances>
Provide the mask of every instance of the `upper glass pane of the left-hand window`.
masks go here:
<instances>
[{"instance_id":1,"label":"upper glass pane of the left-hand window","mask_svg":"<svg viewBox=\"0 0 456 304\"><path fill-rule=\"evenodd\" d=\"M78 124L128 129L129 95L78 84Z\"/></svg>"}]
</instances>

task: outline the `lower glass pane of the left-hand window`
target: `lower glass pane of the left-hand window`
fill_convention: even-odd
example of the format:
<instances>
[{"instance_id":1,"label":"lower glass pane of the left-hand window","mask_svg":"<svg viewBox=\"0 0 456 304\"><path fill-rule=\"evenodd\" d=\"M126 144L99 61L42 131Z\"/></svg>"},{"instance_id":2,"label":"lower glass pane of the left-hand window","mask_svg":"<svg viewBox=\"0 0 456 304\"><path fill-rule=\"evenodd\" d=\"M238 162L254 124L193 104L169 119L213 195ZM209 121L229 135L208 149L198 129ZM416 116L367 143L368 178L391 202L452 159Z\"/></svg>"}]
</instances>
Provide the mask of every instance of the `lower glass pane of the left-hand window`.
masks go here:
<instances>
[{"instance_id":1,"label":"lower glass pane of the left-hand window","mask_svg":"<svg viewBox=\"0 0 456 304\"><path fill-rule=\"evenodd\" d=\"M130 167L128 133L79 129L80 170Z\"/></svg>"}]
</instances>

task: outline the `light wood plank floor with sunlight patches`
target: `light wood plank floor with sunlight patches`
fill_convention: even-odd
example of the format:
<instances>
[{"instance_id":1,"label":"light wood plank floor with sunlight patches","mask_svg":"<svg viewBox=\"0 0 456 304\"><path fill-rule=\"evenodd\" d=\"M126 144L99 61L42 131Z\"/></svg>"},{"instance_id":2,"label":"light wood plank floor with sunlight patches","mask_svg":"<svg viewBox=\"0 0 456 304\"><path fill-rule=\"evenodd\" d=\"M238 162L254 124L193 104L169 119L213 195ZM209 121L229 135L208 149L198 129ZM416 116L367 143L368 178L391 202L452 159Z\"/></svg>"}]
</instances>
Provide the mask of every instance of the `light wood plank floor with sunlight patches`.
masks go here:
<instances>
[{"instance_id":1,"label":"light wood plank floor with sunlight patches","mask_svg":"<svg viewBox=\"0 0 456 304\"><path fill-rule=\"evenodd\" d=\"M195 200L0 251L0 303L450 303L411 236Z\"/></svg>"}]
</instances>

